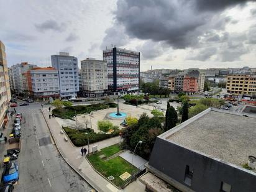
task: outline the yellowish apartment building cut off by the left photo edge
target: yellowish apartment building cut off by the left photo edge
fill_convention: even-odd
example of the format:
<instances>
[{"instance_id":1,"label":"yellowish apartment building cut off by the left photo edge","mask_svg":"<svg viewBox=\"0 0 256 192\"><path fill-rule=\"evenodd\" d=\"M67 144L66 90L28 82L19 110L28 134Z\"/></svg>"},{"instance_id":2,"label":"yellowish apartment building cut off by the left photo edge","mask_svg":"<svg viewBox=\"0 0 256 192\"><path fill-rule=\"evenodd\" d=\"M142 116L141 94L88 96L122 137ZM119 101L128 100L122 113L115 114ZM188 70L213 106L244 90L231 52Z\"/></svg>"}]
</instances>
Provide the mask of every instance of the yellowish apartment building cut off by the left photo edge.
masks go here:
<instances>
[{"instance_id":1,"label":"yellowish apartment building cut off by the left photo edge","mask_svg":"<svg viewBox=\"0 0 256 192\"><path fill-rule=\"evenodd\" d=\"M0 41L0 129L8 122L7 109L11 100L8 67L4 43Z\"/></svg>"}]
</instances>

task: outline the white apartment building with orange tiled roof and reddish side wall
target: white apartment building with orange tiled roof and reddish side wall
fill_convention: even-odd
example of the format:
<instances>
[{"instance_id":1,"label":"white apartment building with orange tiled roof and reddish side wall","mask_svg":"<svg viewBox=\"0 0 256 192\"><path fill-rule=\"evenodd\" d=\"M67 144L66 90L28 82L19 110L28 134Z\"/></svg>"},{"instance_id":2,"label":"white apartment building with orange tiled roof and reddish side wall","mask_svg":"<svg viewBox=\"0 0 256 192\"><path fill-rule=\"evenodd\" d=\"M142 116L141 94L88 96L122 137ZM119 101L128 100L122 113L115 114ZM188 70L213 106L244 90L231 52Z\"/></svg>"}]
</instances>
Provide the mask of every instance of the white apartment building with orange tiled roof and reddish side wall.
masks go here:
<instances>
[{"instance_id":1,"label":"white apartment building with orange tiled roof and reddish side wall","mask_svg":"<svg viewBox=\"0 0 256 192\"><path fill-rule=\"evenodd\" d=\"M51 67L38 67L24 73L24 88L35 100L60 97L58 71Z\"/></svg>"}]
</instances>

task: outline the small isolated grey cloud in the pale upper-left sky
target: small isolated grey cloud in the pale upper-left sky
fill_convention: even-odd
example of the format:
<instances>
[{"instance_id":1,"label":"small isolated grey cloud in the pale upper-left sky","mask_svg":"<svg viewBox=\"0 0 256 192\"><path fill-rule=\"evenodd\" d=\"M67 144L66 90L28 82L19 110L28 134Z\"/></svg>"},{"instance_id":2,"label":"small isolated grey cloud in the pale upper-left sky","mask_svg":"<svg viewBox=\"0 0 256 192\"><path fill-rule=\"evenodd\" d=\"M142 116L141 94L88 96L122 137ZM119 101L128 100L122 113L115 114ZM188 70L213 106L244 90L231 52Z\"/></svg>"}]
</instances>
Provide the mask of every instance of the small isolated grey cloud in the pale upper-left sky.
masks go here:
<instances>
[{"instance_id":1,"label":"small isolated grey cloud in the pale upper-left sky","mask_svg":"<svg viewBox=\"0 0 256 192\"><path fill-rule=\"evenodd\" d=\"M39 30L39 32L45 32L46 30L53 30L56 32L63 32L66 30L66 24L58 23L52 19L42 22L42 24L34 24L35 28Z\"/></svg>"}]
</instances>

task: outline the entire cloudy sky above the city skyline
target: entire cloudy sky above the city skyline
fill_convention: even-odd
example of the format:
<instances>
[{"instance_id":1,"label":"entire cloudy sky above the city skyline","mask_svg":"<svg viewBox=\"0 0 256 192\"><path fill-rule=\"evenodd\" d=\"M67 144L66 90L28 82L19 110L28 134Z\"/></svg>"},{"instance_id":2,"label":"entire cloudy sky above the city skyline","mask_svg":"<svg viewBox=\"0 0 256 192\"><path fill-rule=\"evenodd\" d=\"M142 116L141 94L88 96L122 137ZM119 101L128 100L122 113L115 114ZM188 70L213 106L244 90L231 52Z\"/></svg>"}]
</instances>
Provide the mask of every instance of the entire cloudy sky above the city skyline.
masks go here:
<instances>
[{"instance_id":1,"label":"entire cloudy sky above the city skyline","mask_svg":"<svg viewBox=\"0 0 256 192\"><path fill-rule=\"evenodd\" d=\"M141 52L142 71L256 67L256 1L0 0L0 24L9 66L116 45Z\"/></svg>"}]
</instances>

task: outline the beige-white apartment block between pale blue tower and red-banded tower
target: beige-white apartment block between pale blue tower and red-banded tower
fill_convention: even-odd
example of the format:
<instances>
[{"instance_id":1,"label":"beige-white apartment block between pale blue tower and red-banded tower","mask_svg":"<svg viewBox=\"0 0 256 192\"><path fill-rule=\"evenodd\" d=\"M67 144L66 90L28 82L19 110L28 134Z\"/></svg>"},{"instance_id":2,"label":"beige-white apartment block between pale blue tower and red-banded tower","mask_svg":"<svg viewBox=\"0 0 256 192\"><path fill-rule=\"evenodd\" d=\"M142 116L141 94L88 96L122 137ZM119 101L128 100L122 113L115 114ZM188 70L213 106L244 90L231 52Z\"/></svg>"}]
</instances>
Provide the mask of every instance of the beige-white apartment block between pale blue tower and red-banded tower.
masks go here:
<instances>
[{"instance_id":1,"label":"beige-white apartment block between pale blue tower and red-banded tower","mask_svg":"<svg viewBox=\"0 0 256 192\"><path fill-rule=\"evenodd\" d=\"M107 62L86 58L81 61L81 91L85 97L104 96L107 89Z\"/></svg>"}]
</instances>

